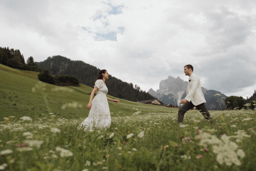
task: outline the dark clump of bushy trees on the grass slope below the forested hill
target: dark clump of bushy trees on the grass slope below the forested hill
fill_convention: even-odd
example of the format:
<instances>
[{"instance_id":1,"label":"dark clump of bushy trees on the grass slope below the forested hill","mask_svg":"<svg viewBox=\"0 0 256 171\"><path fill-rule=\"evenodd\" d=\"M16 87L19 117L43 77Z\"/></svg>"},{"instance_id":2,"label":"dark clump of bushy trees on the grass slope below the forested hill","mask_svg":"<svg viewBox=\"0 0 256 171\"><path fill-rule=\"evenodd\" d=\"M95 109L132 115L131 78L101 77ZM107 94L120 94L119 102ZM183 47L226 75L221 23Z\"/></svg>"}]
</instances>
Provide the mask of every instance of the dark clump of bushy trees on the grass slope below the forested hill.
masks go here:
<instances>
[{"instance_id":1,"label":"dark clump of bushy trees on the grass slope below the forested hill","mask_svg":"<svg viewBox=\"0 0 256 171\"><path fill-rule=\"evenodd\" d=\"M49 70L44 70L43 73L37 75L42 82L54 84L56 86L79 86L78 78L71 75L52 76Z\"/></svg>"}]
</instances>

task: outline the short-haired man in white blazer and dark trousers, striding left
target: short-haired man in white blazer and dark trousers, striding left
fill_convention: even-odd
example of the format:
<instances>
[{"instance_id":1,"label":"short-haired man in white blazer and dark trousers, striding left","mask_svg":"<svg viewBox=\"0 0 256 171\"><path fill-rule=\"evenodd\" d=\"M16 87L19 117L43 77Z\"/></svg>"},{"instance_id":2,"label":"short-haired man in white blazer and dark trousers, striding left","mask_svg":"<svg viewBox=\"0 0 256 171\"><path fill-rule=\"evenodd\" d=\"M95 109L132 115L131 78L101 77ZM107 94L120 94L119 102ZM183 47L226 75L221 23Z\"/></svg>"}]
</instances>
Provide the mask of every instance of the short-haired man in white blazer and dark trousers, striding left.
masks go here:
<instances>
[{"instance_id":1,"label":"short-haired man in white blazer and dark trousers, striding left","mask_svg":"<svg viewBox=\"0 0 256 171\"><path fill-rule=\"evenodd\" d=\"M182 122L185 113L196 106L205 119L209 120L211 123L214 123L214 119L212 119L204 104L206 101L202 92L200 79L196 74L193 73L193 66L186 65L184 67L184 73L185 75L189 76L187 96L180 102L183 105L178 112L178 122Z\"/></svg>"}]
</instances>

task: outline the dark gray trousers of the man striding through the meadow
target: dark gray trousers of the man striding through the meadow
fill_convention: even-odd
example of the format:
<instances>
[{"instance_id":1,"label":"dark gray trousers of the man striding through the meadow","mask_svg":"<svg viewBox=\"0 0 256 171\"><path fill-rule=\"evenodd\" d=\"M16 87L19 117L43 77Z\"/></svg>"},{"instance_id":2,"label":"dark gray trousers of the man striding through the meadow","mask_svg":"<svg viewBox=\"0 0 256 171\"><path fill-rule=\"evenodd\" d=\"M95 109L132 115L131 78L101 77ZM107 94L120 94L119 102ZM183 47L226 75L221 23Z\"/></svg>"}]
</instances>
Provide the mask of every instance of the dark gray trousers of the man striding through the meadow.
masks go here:
<instances>
[{"instance_id":1,"label":"dark gray trousers of the man striding through the meadow","mask_svg":"<svg viewBox=\"0 0 256 171\"><path fill-rule=\"evenodd\" d=\"M195 105L190 101L186 101L185 104L183 104L178 112L178 122L182 122L184 115L187 111L189 111L191 108L193 108ZM204 103L199 104L196 106L196 108L200 111L200 113L205 117L205 119L209 120L211 123L214 122L212 117L210 116L210 113L207 111L206 106Z\"/></svg>"}]
</instances>

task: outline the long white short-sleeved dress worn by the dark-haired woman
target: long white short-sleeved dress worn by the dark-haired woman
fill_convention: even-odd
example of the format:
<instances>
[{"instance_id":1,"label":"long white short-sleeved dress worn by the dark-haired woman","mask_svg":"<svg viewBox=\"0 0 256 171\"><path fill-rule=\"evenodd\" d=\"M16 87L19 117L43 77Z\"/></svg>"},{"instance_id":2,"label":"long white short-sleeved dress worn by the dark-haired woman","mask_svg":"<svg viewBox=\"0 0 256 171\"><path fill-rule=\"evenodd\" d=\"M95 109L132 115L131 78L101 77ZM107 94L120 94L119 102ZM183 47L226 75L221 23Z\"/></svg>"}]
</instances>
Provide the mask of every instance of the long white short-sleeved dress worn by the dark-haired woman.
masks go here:
<instances>
[{"instance_id":1,"label":"long white short-sleeved dress worn by the dark-haired woman","mask_svg":"<svg viewBox=\"0 0 256 171\"><path fill-rule=\"evenodd\" d=\"M109 90L102 79L98 79L94 87L97 87L98 90L92 101L89 116L78 126L78 129L84 128L84 131L93 130L93 128L105 129L111 124L110 108L108 99L106 99L106 93Z\"/></svg>"}]
</instances>

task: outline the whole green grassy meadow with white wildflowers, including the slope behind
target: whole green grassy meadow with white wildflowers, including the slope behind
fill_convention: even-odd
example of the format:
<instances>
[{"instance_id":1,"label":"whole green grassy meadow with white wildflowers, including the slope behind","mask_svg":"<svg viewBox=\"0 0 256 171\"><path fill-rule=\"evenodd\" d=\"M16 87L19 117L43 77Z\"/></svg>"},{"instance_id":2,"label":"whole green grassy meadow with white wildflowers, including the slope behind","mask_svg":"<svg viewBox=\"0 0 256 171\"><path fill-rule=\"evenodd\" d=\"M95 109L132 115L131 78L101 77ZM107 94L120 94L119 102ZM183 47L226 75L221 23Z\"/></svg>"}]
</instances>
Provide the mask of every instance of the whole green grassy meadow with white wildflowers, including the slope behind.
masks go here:
<instances>
[{"instance_id":1,"label":"whole green grassy meadow with white wildflowers, including the slope behind","mask_svg":"<svg viewBox=\"0 0 256 171\"><path fill-rule=\"evenodd\" d=\"M0 170L256 168L256 111L210 111L215 124L189 111L178 124L177 109L119 99L108 130L84 132L92 88L37 74L0 65Z\"/></svg>"}]
</instances>

